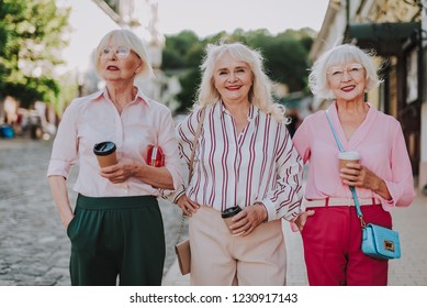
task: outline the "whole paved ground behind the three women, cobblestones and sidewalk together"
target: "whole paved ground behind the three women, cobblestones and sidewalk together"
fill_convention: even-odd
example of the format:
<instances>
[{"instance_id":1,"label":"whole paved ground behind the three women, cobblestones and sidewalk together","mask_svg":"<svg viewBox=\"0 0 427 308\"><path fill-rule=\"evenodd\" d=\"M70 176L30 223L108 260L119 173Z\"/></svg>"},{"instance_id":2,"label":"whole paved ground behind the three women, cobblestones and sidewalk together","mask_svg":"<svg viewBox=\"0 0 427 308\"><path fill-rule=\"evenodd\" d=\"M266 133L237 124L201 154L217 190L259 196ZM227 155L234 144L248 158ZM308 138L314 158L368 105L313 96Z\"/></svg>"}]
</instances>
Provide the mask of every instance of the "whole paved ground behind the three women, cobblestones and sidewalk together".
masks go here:
<instances>
[{"instance_id":1,"label":"whole paved ground behind the three women, cobblestones and sidewalk together","mask_svg":"<svg viewBox=\"0 0 427 308\"><path fill-rule=\"evenodd\" d=\"M69 241L46 179L50 142L0 139L0 286L69 285ZM76 170L70 182L74 182ZM75 193L70 190L74 204ZM161 201L167 258L164 285L188 285L173 253L180 213ZM402 258L390 262L390 285L427 286L427 197L392 211ZM288 284L307 285L299 233L284 227Z\"/></svg>"}]
</instances>

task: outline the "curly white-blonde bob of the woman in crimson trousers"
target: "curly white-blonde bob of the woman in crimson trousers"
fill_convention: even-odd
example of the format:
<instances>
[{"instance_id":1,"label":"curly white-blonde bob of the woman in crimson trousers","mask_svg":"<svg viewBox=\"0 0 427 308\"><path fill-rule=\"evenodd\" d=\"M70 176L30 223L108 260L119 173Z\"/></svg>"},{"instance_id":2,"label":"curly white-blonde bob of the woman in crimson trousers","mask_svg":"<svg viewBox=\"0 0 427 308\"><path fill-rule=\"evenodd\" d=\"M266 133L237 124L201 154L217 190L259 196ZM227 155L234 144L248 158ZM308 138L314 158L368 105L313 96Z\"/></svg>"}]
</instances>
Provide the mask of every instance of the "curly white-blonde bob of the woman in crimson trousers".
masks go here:
<instances>
[{"instance_id":1,"label":"curly white-blonde bob of the woman in crimson trousers","mask_svg":"<svg viewBox=\"0 0 427 308\"><path fill-rule=\"evenodd\" d=\"M373 88L378 87L381 82L377 74L377 68L372 58L374 54L363 52L355 45L344 44L336 46L324 53L314 63L308 75L308 87L312 90L313 95L319 98L334 99L335 96L330 90L326 76L326 73L329 67L346 65L349 63L359 63L364 67L364 91L369 92Z\"/></svg>"}]
</instances>

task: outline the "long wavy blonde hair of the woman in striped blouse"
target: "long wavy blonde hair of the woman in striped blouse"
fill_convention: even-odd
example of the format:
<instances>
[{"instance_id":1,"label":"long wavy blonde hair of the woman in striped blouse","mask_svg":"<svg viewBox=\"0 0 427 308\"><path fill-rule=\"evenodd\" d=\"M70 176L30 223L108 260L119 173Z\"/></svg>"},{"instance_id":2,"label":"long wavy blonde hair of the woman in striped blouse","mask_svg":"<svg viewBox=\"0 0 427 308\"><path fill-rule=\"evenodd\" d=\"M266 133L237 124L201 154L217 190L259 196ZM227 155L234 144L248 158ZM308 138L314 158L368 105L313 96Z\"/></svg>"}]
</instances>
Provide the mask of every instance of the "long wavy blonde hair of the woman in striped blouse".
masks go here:
<instances>
[{"instance_id":1,"label":"long wavy blonde hair of the woman in striped blouse","mask_svg":"<svg viewBox=\"0 0 427 308\"><path fill-rule=\"evenodd\" d=\"M252 87L249 90L249 101L261 111L270 113L278 122L286 121L284 107L274 103L271 87L272 82L263 72L262 56L243 43L209 44L206 55L201 65L202 81L198 89L198 105L195 109L221 101L221 95L214 86L214 70L218 58L228 53L235 61L249 65L252 74Z\"/></svg>"}]
</instances>

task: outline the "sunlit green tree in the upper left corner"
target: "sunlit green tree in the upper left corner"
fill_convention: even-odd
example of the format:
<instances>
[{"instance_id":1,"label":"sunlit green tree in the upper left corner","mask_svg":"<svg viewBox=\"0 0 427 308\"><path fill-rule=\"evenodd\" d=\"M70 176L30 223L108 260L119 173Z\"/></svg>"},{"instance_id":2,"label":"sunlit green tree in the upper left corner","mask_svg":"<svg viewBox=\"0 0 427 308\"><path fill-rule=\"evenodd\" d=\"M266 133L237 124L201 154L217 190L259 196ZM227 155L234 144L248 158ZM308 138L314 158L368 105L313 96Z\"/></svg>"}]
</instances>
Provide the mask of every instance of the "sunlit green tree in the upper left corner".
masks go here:
<instances>
[{"instance_id":1,"label":"sunlit green tree in the upper left corner","mask_svg":"<svg viewBox=\"0 0 427 308\"><path fill-rule=\"evenodd\" d=\"M56 102L54 68L66 46L69 9L55 0L0 2L0 92L27 108L37 100Z\"/></svg>"}]
</instances>

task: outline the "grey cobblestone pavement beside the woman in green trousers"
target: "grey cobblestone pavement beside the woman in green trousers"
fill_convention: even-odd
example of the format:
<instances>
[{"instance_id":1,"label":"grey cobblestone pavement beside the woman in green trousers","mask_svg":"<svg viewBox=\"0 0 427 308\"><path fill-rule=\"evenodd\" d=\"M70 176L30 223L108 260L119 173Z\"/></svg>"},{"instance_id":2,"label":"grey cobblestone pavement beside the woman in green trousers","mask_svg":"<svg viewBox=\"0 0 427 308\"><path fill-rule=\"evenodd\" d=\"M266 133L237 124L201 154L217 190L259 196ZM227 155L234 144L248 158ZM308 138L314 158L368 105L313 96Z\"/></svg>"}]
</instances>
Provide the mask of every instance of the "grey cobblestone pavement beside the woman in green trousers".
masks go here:
<instances>
[{"instance_id":1,"label":"grey cobblestone pavement beside the woman in green trousers","mask_svg":"<svg viewBox=\"0 0 427 308\"><path fill-rule=\"evenodd\" d=\"M0 286L70 285L70 243L46 178L50 148L49 141L0 139ZM72 205L76 193L70 187L76 174L75 167L69 179ZM166 273L175 261L180 211L168 201L159 204Z\"/></svg>"}]
</instances>

